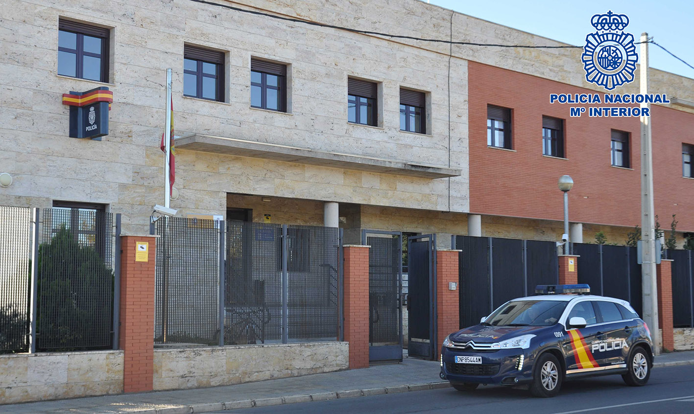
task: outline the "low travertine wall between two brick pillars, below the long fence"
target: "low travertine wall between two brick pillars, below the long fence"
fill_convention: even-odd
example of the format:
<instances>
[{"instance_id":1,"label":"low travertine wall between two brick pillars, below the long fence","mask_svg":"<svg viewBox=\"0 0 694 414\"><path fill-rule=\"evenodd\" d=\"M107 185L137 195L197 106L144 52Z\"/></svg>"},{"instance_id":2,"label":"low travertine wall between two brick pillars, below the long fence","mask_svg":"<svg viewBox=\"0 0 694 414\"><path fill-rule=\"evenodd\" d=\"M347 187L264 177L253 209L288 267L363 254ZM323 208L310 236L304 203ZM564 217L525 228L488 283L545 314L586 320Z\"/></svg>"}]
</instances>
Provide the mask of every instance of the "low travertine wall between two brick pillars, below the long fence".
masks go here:
<instances>
[{"instance_id":1,"label":"low travertine wall between two brick pillars, below the long fence","mask_svg":"<svg viewBox=\"0 0 694 414\"><path fill-rule=\"evenodd\" d=\"M154 389L230 385L347 367L346 342L155 349Z\"/></svg>"}]
</instances>

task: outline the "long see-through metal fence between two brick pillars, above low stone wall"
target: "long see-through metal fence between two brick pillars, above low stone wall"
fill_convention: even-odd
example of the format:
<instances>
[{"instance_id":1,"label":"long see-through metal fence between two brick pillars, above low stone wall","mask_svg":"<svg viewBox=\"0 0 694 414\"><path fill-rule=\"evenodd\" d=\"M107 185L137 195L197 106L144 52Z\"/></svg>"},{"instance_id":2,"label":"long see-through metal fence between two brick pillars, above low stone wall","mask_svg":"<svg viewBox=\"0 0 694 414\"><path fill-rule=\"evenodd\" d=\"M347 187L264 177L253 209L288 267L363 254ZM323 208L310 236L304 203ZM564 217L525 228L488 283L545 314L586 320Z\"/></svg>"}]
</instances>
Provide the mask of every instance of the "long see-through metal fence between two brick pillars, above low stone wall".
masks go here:
<instances>
[{"instance_id":1,"label":"long see-through metal fence between two brick pillars, above low stone wall","mask_svg":"<svg viewBox=\"0 0 694 414\"><path fill-rule=\"evenodd\" d=\"M155 343L340 338L339 229L162 217L154 230Z\"/></svg>"}]
</instances>

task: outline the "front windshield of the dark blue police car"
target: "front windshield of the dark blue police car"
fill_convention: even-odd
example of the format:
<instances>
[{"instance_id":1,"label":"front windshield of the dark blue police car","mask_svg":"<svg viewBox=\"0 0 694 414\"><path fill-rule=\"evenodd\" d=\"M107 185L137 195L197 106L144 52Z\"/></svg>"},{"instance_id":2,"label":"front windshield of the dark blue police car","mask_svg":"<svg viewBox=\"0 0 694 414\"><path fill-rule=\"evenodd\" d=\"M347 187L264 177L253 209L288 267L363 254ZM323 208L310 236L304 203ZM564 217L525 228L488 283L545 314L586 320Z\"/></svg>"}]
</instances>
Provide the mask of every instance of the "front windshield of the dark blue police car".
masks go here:
<instances>
[{"instance_id":1,"label":"front windshield of the dark blue police car","mask_svg":"<svg viewBox=\"0 0 694 414\"><path fill-rule=\"evenodd\" d=\"M495 326L548 327L557 323L566 304L563 300L515 300L497 309L484 322Z\"/></svg>"}]
</instances>

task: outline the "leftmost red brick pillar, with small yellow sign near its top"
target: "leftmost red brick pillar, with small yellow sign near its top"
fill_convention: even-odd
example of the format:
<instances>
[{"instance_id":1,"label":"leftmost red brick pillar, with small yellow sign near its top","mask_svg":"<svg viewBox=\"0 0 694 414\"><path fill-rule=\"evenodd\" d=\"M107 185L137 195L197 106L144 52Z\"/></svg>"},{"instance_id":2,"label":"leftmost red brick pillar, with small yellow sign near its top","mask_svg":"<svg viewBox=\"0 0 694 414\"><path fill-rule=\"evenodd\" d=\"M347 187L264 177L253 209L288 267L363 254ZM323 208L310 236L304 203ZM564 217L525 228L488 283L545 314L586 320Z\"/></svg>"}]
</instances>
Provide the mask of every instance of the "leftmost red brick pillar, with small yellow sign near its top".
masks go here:
<instances>
[{"instance_id":1,"label":"leftmost red brick pillar, with small yellow sign near its top","mask_svg":"<svg viewBox=\"0 0 694 414\"><path fill-rule=\"evenodd\" d=\"M136 261L139 243L148 243L147 261ZM152 390L155 244L154 236L121 237L120 348L125 354L125 393Z\"/></svg>"}]
</instances>

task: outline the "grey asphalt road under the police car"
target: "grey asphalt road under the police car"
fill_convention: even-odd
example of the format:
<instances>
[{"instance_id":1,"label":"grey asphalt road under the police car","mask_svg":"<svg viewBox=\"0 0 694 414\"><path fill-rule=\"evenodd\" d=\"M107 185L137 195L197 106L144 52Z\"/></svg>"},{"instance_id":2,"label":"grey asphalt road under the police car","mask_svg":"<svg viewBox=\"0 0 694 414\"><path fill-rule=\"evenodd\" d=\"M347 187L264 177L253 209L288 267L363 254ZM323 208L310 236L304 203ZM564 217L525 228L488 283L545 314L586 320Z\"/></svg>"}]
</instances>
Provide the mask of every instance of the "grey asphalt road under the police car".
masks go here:
<instances>
[{"instance_id":1,"label":"grey asphalt road under the police car","mask_svg":"<svg viewBox=\"0 0 694 414\"><path fill-rule=\"evenodd\" d=\"M644 387L626 386L618 375L569 381L554 398L535 398L522 389L480 386L473 393L443 388L219 413L694 413L694 365L656 368Z\"/></svg>"}]
</instances>

